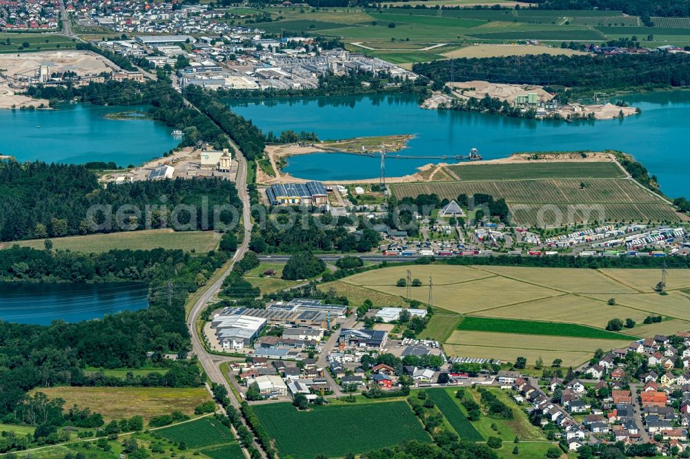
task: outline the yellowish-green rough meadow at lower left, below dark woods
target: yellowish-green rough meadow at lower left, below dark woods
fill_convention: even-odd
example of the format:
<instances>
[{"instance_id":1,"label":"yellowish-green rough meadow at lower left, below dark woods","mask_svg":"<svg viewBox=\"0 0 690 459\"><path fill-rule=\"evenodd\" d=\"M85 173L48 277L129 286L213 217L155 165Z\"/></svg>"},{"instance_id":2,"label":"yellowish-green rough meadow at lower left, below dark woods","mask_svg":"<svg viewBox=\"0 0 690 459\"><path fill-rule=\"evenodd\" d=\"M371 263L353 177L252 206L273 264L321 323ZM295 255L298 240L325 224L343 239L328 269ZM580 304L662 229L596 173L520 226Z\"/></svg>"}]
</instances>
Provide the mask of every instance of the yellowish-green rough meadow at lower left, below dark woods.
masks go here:
<instances>
[{"instance_id":1,"label":"yellowish-green rough meadow at lower left, below dark woods","mask_svg":"<svg viewBox=\"0 0 690 459\"><path fill-rule=\"evenodd\" d=\"M172 411L193 415L194 408L210 400L204 387L41 387L49 398L63 398L65 406L79 405L103 415L106 421L141 415L144 420Z\"/></svg>"}]
</instances>

